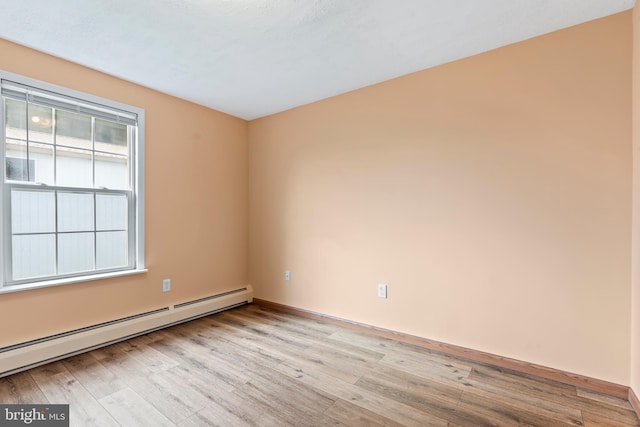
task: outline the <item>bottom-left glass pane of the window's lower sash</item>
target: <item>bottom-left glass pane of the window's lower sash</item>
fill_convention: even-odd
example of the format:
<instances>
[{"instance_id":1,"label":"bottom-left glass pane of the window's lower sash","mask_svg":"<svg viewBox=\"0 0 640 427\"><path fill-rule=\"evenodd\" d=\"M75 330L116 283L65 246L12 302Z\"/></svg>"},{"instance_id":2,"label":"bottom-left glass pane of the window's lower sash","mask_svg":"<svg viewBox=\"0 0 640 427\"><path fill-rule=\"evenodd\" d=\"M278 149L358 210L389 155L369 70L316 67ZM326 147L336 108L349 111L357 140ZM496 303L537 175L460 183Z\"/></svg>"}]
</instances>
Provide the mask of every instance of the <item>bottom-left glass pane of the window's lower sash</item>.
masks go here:
<instances>
[{"instance_id":1,"label":"bottom-left glass pane of the window's lower sash","mask_svg":"<svg viewBox=\"0 0 640 427\"><path fill-rule=\"evenodd\" d=\"M53 234L13 236L13 280L56 273L56 239Z\"/></svg>"}]
</instances>

